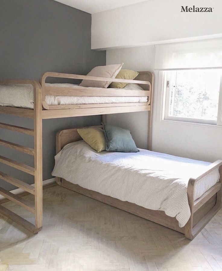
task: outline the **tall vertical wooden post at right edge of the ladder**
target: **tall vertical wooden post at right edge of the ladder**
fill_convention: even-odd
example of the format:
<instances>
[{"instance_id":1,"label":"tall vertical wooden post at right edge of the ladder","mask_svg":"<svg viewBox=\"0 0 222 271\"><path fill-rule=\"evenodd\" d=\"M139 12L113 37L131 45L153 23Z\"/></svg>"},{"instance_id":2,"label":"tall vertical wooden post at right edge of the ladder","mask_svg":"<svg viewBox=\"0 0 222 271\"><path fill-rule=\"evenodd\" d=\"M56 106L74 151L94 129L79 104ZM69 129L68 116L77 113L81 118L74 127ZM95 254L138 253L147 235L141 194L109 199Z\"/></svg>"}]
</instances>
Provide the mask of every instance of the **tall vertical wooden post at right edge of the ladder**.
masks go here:
<instances>
[{"instance_id":1,"label":"tall vertical wooden post at right edge of the ladder","mask_svg":"<svg viewBox=\"0 0 222 271\"><path fill-rule=\"evenodd\" d=\"M42 91L39 83L34 88L34 163L35 163L35 226L43 226L43 177L42 177Z\"/></svg>"}]
</instances>

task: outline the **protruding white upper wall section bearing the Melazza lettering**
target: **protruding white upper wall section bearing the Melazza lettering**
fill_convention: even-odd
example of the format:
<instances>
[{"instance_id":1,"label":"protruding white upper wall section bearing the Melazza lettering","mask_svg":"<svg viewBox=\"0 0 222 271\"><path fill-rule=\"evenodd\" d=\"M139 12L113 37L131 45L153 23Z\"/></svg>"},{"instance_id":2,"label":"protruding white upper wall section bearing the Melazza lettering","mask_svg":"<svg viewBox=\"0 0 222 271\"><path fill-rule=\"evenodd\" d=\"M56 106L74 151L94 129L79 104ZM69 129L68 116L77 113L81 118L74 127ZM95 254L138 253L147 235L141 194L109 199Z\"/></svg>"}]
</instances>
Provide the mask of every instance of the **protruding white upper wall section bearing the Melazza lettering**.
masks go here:
<instances>
[{"instance_id":1,"label":"protruding white upper wall section bearing the Melazza lettering","mask_svg":"<svg viewBox=\"0 0 222 271\"><path fill-rule=\"evenodd\" d=\"M212 13L181 13L181 6ZM149 0L92 14L92 49L221 37L221 0Z\"/></svg>"}]
</instances>

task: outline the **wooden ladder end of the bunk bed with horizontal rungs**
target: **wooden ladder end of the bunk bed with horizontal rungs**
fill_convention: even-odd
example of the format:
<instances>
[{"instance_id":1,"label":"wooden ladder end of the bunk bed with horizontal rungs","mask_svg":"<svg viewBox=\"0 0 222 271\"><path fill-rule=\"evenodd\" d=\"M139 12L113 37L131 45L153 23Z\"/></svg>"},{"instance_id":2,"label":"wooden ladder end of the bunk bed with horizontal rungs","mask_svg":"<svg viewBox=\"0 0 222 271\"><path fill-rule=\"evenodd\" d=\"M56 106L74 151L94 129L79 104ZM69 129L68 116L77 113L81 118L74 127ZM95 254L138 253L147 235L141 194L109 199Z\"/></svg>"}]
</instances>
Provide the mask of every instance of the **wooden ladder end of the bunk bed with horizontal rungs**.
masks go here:
<instances>
[{"instance_id":1,"label":"wooden ladder end of the bunk bed with horizontal rungs","mask_svg":"<svg viewBox=\"0 0 222 271\"><path fill-rule=\"evenodd\" d=\"M7 129L21 134L28 134L34 137L34 149L21 146L9 141L0 139L0 146L4 146L10 149L14 149L19 152L23 152L30 156L34 156L34 167L30 167L23 163L14 161L0 155L0 163L16 168L34 176L34 186L25 183L15 177L11 177L0 171L0 179L4 180L14 186L17 186L24 191L34 195L35 203L31 203L15 194L0 188L0 195L4 196L8 200L15 202L16 204L26 208L28 211L35 215L35 225L25 220L21 216L15 214L9 209L0 205L0 213L10 218L17 224L23 226L32 233L38 233L42 229L43 224L43 199L42 199L42 93L41 86L38 82L33 80L7 80L0 81L0 84L31 84L34 91L34 110L21 109L13 107L0 106L0 113L8 115L18 115L22 117L28 117L34 119L34 129L19 127L15 125L9 125L6 123L0 123L1 129Z\"/></svg>"}]
</instances>

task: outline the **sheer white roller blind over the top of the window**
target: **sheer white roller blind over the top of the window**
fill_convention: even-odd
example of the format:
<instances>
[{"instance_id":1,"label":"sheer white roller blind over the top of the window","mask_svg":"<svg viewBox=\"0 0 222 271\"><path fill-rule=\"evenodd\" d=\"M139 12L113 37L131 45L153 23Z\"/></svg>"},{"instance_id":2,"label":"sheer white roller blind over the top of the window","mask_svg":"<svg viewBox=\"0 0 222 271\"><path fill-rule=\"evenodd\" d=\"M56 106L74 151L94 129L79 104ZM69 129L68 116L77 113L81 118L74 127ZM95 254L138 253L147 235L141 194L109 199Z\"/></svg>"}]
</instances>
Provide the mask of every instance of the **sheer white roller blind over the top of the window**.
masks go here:
<instances>
[{"instance_id":1,"label":"sheer white roller blind over the top of the window","mask_svg":"<svg viewBox=\"0 0 222 271\"><path fill-rule=\"evenodd\" d=\"M155 47L156 70L222 68L222 38Z\"/></svg>"}]
</instances>

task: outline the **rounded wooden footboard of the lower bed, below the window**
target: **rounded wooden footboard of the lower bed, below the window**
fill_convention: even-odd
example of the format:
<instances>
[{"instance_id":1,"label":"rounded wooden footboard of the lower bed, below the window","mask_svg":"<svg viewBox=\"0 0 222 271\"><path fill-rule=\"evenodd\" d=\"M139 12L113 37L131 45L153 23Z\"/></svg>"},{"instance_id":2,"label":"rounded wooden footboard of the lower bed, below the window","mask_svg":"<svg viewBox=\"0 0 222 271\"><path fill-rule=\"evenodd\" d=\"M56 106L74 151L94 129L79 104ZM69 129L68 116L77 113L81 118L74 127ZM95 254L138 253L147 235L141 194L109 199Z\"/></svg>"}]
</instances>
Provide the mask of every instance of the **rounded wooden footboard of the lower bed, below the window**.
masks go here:
<instances>
[{"instance_id":1,"label":"rounded wooden footboard of the lower bed, below the window","mask_svg":"<svg viewBox=\"0 0 222 271\"><path fill-rule=\"evenodd\" d=\"M212 186L207 192L205 192L199 199L194 200L194 189L195 183L210 174L215 169L219 170L220 178L218 183ZM216 196L216 203L214 207L194 226L193 225L193 216L195 212L200 209L209 199L214 195ZM221 206L221 196L222 196L222 160L217 160L206 168L206 171L200 174L199 176L192 177L189 179L187 187L187 196L190 206L191 216L189 221L185 226L185 236L192 240L195 236L206 226L206 224L211 220L211 218L217 213Z\"/></svg>"}]
</instances>

